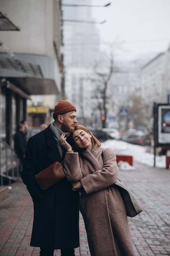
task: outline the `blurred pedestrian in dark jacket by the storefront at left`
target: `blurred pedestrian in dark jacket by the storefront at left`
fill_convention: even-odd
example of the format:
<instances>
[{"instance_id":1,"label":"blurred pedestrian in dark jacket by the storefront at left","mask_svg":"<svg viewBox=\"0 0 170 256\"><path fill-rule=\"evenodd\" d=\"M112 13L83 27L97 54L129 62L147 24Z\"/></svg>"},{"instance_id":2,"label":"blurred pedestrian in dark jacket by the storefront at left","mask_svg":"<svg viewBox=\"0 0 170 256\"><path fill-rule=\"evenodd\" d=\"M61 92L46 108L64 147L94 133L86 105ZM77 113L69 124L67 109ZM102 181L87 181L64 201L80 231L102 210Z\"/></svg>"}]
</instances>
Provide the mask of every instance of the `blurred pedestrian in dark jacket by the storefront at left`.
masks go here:
<instances>
[{"instance_id":1,"label":"blurred pedestrian in dark jacket by the storefront at left","mask_svg":"<svg viewBox=\"0 0 170 256\"><path fill-rule=\"evenodd\" d=\"M17 132L14 135L14 149L19 159L19 167L18 167L19 173L21 173L22 171L23 159L25 156L25 149L27 144L24 132L25 132L24 124L19 124L17 127Z\"/></svg>"}]
</instances>

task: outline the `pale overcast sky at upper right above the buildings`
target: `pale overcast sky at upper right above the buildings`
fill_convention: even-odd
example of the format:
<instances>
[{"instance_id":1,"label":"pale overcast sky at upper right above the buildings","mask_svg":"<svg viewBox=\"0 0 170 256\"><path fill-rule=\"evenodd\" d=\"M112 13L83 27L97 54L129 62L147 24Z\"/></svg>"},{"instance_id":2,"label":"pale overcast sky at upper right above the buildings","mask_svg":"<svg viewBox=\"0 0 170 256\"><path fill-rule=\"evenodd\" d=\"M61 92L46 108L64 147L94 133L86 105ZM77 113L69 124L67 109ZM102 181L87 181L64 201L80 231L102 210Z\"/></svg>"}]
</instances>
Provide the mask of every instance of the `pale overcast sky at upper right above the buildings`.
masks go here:
<instances>
[{"instance_id":1,"label":"pale overcast sky at upper right above the buildings","mask_svg":"<svg viewBox=\"0 0 170 256\"><path fill-rule=\"evenodd\" d=\"M136 59L140 56L165 52L170 46L170 0L92 0L92 15L101 38L101 48L108 43L122 42L119 58Z\"/></svg>"}]
</instances>

